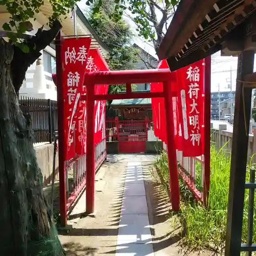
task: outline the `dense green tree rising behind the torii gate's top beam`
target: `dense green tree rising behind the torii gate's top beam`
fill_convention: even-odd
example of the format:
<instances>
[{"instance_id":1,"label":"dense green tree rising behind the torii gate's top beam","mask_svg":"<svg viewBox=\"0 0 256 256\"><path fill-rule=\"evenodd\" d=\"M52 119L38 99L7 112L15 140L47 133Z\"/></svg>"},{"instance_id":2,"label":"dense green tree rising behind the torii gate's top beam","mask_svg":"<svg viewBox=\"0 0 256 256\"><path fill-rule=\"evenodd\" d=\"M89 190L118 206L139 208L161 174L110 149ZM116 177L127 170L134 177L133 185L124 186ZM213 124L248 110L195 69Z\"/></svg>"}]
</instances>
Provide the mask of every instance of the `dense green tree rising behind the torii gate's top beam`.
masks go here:
<instances>
[{"instance_id":1,"label":"dense green tree rising behind the torii gate's top beam","mask_svg":"<svg viewBox=\"0 0 256 256\"><path fill-rule=\"evenodd\" d=\"M104 44L111 49L107 57L110 69L133 69L134 63L138 61L137 54L131 47L133 34L120 16L120 7L122 10L126 7L117 6L115 2L115 0L104 0L104 5L98 12L91 12L88 20ZM98 6L98 2L94 2L92 10Z\"/></svg>"}]
</instances>

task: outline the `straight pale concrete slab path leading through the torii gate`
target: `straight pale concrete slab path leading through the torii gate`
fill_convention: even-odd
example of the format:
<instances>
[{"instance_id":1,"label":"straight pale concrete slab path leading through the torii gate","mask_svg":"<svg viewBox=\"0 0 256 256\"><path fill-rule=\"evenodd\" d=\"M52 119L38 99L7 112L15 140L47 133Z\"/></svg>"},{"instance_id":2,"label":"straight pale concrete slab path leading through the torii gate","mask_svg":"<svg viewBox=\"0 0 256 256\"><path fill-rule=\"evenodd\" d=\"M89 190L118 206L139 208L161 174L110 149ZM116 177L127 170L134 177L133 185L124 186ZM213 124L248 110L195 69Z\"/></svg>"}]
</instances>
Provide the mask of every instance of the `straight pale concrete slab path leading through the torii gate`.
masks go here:
<instances>
[{"instance_id":1,"label":"straight pale concrete slab path leading through the torii gate","mask_svg":"<svg viewBox=\"0 0 256 256\"><path fill-rule=\"evenodd\" d=\"M154 255L141 162L127 163L116 255Z\"/></svg>"}]
</instances>

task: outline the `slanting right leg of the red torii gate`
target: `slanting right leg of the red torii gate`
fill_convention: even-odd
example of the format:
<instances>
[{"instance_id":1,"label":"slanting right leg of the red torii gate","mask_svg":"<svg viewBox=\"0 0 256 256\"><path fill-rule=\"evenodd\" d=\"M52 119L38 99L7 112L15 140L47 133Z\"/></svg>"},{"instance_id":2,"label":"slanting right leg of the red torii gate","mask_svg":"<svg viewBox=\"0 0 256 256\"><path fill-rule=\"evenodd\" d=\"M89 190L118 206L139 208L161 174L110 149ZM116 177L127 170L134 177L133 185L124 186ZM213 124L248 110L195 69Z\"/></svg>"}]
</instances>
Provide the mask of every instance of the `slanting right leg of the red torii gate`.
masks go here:
<instances>
[{"instance_id":1,"label":"slanting right leg of the red torii gate","mask_svg":"<svg viewBox=\"0 0 256 256\"><path fill-rule=\"evenodd\" d=\"M169 90L170 82L163 82L164 107L165 107L165 125L167 139L167 155L169 167L170 200L174 211L180 210L180 189L177 168L177 156L174 137L174 113L172 104L172 95Z\"/></svg>"}]
</instances>

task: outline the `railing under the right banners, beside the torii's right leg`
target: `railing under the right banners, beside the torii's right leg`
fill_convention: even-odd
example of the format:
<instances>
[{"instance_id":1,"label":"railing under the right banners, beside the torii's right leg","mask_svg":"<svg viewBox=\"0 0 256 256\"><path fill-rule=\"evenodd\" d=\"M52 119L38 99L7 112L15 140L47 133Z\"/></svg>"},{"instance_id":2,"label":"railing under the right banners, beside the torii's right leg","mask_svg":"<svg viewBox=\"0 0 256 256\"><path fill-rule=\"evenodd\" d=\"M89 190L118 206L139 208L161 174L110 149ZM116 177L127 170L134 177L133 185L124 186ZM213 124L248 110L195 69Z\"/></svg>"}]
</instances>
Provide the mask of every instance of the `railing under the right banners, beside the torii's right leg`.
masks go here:
<instances>
[{"instance_id":1,"label":"railing under the right banners, beside the torii's right leg","mask_svg":"<svg viewBox=\"0 0 256 256\"><path fill-rule=\"evenodd\" d=\"M179 174L186 182L195 199L204 201L205 171L204 156L184 157L182 151L176 151Z\"/></svg>"}]
</instances>

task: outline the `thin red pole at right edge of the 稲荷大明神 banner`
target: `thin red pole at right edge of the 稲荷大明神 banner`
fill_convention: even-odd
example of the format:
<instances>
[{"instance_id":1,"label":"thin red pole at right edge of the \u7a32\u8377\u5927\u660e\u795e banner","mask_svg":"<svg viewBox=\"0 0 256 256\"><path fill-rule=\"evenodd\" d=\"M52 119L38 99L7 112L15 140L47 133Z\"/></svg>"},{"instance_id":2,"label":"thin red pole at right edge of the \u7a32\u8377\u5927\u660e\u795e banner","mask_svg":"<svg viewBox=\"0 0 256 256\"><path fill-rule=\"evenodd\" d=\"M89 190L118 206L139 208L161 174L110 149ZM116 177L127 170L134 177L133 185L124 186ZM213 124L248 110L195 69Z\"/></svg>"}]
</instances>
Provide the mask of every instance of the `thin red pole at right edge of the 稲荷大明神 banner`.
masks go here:
<instances>
[{"instance_id":1,"label":"thin red pole at right edge of the \u7a32\u8377\u5927\u660e\u795e banner","mask_svg":"<svg viewBox=\"0 0 256 256\"><path fill-rule=\"evenodd\" d=\"M205 59L204 67L204 203L207 205L207 199L210 189L210 87L211 87L211 57Z\"/></svg>"}]
</instances>

